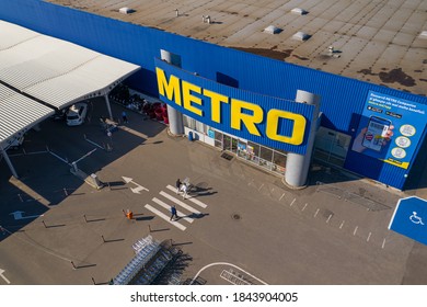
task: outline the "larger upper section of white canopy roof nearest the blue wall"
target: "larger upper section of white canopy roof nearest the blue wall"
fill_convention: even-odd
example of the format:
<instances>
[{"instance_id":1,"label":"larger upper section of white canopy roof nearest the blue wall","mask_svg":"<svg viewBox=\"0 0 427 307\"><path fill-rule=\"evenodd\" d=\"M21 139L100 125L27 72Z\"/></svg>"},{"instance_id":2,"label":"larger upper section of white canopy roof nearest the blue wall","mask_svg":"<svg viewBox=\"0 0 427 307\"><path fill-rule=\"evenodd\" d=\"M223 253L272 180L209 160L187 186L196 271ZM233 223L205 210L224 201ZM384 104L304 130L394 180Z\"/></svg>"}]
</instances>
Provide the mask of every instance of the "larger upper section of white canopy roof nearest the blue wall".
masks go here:
<instances>
[{"instance_id":1,"label":"larger upper section of white canopy roof nearest the blue wall","mask_svg":"<svg viewBox=\"0 0 427 307\"><path fill-rule=\"evenodd\" d=\"M58 109L104 94L139 66L0 21L0 80Z\"/></svg>"}]
</instances>

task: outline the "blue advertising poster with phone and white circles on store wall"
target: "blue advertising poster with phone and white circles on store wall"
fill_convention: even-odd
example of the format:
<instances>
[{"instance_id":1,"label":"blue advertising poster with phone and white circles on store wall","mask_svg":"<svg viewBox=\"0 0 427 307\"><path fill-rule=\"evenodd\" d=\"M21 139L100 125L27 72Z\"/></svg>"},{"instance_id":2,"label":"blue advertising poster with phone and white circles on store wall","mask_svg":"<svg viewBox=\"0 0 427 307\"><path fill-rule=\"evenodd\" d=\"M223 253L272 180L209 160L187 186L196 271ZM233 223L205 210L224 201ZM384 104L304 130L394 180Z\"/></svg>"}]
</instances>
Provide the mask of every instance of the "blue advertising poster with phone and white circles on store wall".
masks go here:
<instances>
[{"instance_id":1,"label":"blue advertising poster with phone and white circles on store wall","mask_svg":"<svg viewBox=\"0 0 427 307\"><path fill-rule=\"evenodd\" d=\"M369 91L351 150L407 169L426 111L427 105Z\"/></svg>"}]
</instances>

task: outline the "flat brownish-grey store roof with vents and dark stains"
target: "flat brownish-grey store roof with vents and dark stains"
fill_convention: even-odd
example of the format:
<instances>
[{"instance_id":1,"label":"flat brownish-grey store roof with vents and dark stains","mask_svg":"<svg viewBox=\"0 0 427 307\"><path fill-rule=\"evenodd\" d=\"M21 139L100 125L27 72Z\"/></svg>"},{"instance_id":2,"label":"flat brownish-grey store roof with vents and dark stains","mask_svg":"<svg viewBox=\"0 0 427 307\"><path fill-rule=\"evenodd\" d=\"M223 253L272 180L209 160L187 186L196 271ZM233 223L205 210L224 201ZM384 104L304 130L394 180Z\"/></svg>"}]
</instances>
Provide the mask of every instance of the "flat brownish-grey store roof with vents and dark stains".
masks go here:
<instances>
[{"instance_id":1,"label":"flat brownish-grey store roof with vents and dark stains","mask_svg":"<svg viewBox=\"0 0 427 307\"><path fill-rule=\"evenodd\" d=\"M419 95L427 92L425 0L48 1ZM135 11L123 14L124 7ZM296 8L308 13L293 13ZM203 15L211 23L204 23ZM269 25L282 31L263 32ZM292 38L297 32L311 37Z\"/></svg>"}]
</instances>

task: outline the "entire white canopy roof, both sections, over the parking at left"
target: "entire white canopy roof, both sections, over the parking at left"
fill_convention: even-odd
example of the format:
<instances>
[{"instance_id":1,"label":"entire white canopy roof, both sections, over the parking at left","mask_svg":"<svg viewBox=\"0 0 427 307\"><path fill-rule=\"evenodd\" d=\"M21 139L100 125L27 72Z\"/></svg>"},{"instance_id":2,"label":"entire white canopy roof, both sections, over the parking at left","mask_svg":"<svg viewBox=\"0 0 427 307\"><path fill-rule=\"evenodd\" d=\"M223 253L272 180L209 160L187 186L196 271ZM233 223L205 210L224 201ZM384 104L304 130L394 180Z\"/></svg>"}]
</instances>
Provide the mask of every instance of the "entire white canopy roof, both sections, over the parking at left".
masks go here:
<instances>
[{"instance_id":1,"label":"entire white canopy roof, both sections, over the parking at left","mask_svg":"<svg viewBox=\"0 0 427 307\"><path fill-rule=\"evenodd\" d=\"M64 109L106 94L139 69L137 65L0 20L0 84L34 98L11 94L10 88L0 87L0 145L22 130L24 123L28 129L54 107Z\"/></svg>"}]
</instances>

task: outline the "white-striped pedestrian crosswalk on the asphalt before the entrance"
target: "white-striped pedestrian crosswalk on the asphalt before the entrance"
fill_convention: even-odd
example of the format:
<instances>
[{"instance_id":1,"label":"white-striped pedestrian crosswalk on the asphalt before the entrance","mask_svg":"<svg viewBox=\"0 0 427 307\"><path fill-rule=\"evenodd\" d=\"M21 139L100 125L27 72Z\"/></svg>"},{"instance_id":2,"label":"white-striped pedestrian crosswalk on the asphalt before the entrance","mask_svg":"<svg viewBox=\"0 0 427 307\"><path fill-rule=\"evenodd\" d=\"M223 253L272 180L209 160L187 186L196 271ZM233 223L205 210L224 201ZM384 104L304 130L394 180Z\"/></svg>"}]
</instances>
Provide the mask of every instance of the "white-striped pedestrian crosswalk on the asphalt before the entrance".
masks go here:
<instances>
[{"instance_id":1,"label":"white-striped pedestrian crosswalk on the asphalt before the entrance","mask_svg":"<svg viewBox=\"0 0 427 307\"><path fill-rule=\"evenodd\" d=\"M160 191L157 197L151 200L151 204L146 204L146 208L158 217L164 219L169 224L175 226L181 230L185 230L188 225L194 221L194 218L201 215L201 209L206 208L204 202L200 202L189 193L185 200L182 194L176 194L176 187L173 185L166 185L166 192ZM172 193L171 193L172 192ZM171 220L171 206L176 206L176 213L178 215L177 220Z\"/></svg>"}]
</instances>

